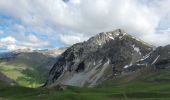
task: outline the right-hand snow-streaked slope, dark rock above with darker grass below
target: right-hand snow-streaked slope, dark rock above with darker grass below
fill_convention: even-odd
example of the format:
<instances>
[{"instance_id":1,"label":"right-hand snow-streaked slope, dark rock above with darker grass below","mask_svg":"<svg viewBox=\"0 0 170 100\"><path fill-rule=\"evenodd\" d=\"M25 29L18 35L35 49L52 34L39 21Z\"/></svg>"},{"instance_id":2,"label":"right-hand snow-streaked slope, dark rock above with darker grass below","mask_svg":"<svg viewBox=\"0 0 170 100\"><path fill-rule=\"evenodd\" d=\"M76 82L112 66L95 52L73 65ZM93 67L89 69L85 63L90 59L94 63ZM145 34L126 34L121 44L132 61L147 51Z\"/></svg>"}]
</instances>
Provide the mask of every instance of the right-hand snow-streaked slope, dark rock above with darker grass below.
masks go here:
<instances>
[{"instance_id":1,"label":"right-hand snow-streaked slope, dark rock above with darker grass below","mask_svg":"<svg viewBox=\"0 0 170 100\"><path fill-rule=\"evenodd\" d=\"M148 83L169 83L170 81L170 45L157 47L142 59L132 65L126 65L116 78L100 84L110 86L113 84L126 84L142 80ZM110 82L109 82L110 81Z\"/></svg>"}]
</instances>

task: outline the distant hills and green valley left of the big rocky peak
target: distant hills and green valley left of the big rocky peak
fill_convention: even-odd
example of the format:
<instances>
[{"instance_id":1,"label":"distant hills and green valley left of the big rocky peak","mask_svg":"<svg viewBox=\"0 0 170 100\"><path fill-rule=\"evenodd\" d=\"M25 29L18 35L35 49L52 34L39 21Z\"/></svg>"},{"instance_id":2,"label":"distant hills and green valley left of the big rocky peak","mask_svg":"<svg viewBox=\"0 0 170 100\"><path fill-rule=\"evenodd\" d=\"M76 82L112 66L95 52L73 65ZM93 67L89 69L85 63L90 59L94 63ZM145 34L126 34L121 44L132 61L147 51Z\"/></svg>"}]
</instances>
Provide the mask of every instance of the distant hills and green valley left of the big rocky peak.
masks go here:
<instances>
[{"instance_id":1,"label":"distant hills and green valley left of the big rocky peak","mask_svg":"<svg viewBox=\"0 0 170 100\"><path fill-rule=\"evenodd\" d=\"M45 82L49 70L64 50L4 53L0 58L0 71L22 86L38 87Z\"/></svg>"}]
</instances>

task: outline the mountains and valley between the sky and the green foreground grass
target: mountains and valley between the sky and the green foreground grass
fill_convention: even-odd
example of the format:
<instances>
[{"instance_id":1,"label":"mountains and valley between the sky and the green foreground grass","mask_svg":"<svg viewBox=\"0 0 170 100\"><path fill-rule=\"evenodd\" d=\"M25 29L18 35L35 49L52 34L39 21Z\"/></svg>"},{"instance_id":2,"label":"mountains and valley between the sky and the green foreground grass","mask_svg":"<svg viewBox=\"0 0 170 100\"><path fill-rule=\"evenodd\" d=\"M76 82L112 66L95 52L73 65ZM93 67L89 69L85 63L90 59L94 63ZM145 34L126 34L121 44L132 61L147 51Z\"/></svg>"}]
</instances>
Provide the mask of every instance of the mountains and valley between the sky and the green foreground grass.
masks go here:
<instances>
[{"instance_id":1,"label":"mountains and valley between the sky and the green foreground grass","mask_svg":"<svg viewBox=\"0 0 170 100\"><path fill-rule=\"evenodd\" d=\"M109 80L130 82L164 69L170 69L170 45L156 48L122 29L99 33L69 48L0 54L0 81L27 87L95 87ZM154 80L168 80L160 75Z\"/></svg>"}]
</instances>

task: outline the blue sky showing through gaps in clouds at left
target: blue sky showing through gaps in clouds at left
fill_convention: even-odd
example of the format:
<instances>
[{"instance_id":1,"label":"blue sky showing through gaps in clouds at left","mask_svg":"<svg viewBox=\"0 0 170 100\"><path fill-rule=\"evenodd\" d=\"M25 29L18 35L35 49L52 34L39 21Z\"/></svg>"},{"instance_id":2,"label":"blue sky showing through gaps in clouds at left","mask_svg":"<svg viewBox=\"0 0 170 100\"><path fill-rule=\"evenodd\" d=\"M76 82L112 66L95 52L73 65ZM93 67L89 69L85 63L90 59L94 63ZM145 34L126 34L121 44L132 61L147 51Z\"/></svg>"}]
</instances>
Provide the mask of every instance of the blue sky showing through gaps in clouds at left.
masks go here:
<instances>
[{"instance_id":1,"label":"blue sky showing through gaps in clouds at left","mask_svg":"<svg viewBox=\"0 0 170 100\"><path fill-rule=\"evenodd\" d=\"M18 28L15 27L15 25L21 25L24 26L25 30L19 30ZM61 27L57 27L56 25L54 25L53 23L45 23L44 28L51 28L52 31L50 32L55 32L57 33L61 33L63 31L65 31L64 28ZM45 48L59 48L59 47L65 47L64 44L62 44L62 42L57 40L57 37L49 37L48 35L48 31L46 31L47 33L42 33L36 29L34 29L34 27L32 26L26 26L24 25L24 23L22 23L22 21L18 18L9 16L9 15L5 15L0 13L0 30L4 31L5 34L0 35L0 39L1 38L5 38L8 37L12 34L17 34L17 33L23 33L26 36L27 35L35 35L37 38L43 40L43 41L48 41L49 42L49 46L43 47ZM14 36L14 35L12 35ZM15 35L16 36L16 35ZM50 35L51 36L51 35ZM18 36L19 37L19 36ZM54 39L52 39L54 38ZM16 44L20 44L21 41L16 41ZM5 50L6 47L3 47L3 50ZM2 48L1 48L2 50Z\"/></svg>"}]
</instances>

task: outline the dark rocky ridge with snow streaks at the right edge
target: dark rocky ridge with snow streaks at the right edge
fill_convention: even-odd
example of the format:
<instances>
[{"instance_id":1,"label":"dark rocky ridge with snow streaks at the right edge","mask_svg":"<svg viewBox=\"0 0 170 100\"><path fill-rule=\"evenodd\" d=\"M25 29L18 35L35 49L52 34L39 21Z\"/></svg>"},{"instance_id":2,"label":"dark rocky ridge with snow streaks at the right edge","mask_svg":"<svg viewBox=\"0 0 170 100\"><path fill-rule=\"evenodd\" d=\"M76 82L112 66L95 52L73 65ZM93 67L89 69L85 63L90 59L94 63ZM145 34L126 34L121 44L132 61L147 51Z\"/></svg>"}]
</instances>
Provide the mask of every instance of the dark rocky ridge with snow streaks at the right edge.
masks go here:
<instances>
[{"instance_id":1,"label":"dark rocky ridge with snow streaks at the right edge","mask_svg":"<svg viewBox=\"0 0 170 100\"><path fill-rule=\"evenodd\" d=\"M170 45L156 48L143 59L129 66L125 71L137 71L146 67L151 67L155 70L170 68Z\"/></svg>"}]
</instances>

